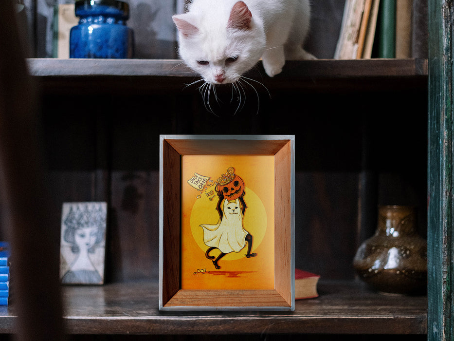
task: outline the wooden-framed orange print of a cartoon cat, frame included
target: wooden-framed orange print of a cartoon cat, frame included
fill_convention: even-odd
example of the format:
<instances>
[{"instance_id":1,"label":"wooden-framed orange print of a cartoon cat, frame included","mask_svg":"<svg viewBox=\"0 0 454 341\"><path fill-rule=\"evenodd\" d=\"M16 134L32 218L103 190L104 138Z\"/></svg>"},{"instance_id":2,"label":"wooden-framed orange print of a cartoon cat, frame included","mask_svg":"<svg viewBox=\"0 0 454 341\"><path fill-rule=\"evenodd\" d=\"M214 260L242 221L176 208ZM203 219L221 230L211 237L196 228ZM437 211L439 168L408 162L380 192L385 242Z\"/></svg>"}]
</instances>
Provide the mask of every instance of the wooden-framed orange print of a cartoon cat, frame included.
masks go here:
<instances>
[{"instance_id":1,"label":"wooden-framed orange print of a cartoon cat, frame included","mask_svg":"<svg viewBox=\"0 0 454 341\"><path fill-rule=\"evenodd\" d=\"M294 136L160 149L160 310L293 310Z\"/></svg>"}]
</instances>

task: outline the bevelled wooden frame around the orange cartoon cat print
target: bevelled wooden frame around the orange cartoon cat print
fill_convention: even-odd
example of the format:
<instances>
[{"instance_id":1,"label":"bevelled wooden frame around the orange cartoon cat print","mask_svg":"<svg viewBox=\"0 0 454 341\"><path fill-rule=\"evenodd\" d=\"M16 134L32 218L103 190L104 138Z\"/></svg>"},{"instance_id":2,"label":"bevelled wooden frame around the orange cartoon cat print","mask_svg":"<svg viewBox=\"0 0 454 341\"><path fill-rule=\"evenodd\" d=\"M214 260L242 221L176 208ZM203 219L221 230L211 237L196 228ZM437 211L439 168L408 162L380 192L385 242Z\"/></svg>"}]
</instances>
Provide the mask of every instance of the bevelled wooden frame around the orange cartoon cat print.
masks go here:
<instances>
[{"instance_id":1,"label":"bevelled wooden frame around the orange cartoon cat print","mask_svg":"<svg viewBox=\"0 0 454 341\"><path fill-rule=\"evenodd\" d=\"M182 221L190 213L182 211L182 187L188 180L182 178L182 163L194 155L272 159L271 288L182 288ZM159 309L294 310L294 179L293 135L161 135ZM244 186L246 189L247 184ZM247 189L245 197L250 200L251 195ZM215 196L211 199L217 200Z\"/></svg>"}]
</instances>

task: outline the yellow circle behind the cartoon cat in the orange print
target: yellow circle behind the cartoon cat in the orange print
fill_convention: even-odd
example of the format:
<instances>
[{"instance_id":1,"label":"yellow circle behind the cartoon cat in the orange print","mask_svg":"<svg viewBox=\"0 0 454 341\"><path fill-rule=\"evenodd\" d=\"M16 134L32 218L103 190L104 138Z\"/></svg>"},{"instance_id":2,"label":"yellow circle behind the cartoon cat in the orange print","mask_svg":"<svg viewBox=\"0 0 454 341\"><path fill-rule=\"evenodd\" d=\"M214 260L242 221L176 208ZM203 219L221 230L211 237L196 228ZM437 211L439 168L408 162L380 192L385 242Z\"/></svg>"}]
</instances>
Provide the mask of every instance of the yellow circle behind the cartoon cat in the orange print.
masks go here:
<instances>
[{"instance_id":1,"label":"yellow circle behind the cartoon cat in the orange print","mask_svg":"<svg viewBox=\"0 0 454 341\"><path fill-rule=\"evenodd\" d=\"M246 211L243 216L243 228L248 231L254 238L252 250L256 249L263 240L267 229L267 215L266 209L260 198L254 193L252 189L245 187L244 202L246 203ZM216 210L218 204L218 196L216 195L213 200L208 197L202 196L196 200L191 211L191 231L197 245L205 252L209 246L203 242L203 228L202 224L215 225L219 222L219 214ZM246 247L239 252L230 252L223 257L223 260L236 260L244 257L247 250Z\"/></svg>"}]
</instances>

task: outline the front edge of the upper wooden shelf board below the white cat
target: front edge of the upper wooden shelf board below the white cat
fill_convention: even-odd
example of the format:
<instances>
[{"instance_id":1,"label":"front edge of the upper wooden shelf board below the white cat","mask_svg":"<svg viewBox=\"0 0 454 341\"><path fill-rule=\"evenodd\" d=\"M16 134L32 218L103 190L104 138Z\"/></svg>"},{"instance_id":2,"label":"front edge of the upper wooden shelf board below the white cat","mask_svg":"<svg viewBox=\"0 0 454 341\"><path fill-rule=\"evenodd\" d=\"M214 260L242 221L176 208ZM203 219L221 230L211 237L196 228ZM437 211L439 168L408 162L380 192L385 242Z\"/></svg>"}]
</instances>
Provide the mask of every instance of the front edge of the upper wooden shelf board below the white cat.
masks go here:
<instances>
[{"instance_id":1,"label":"front edge of the upper wooden shelf board below the white cat","mask_svg":"<svg viewBox=\"0 0 454 341\"><path fill-rule=\"evenodd\" d=\"M28 59L33 76L167 76L193 77L179 59ZM286 78L427 76L427 59L355 59L287 61Z\"/></svg>"}]
</instances>

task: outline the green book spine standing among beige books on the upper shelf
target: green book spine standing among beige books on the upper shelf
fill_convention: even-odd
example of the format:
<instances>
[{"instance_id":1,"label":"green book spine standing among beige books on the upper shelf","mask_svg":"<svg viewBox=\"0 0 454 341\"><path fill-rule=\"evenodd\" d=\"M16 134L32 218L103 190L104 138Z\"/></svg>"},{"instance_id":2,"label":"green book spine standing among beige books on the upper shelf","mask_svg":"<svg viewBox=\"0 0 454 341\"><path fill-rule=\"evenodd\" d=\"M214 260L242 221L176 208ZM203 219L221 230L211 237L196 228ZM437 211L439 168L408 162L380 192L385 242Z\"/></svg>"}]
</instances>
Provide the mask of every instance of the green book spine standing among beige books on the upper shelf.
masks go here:
<instances>
[{"instance_id":1,"label":"green book spine standing among beige books on the upper shelf","mask_svg":"<svg viewBox=\"0 0 454 341\"><path fill-rule=\"evenodd\" d=\"M378 57L396 57L396 0L380 1Z\"/></svg>"}]
</instances>

